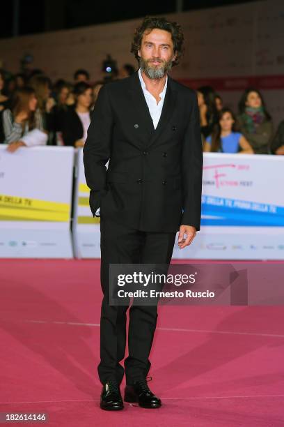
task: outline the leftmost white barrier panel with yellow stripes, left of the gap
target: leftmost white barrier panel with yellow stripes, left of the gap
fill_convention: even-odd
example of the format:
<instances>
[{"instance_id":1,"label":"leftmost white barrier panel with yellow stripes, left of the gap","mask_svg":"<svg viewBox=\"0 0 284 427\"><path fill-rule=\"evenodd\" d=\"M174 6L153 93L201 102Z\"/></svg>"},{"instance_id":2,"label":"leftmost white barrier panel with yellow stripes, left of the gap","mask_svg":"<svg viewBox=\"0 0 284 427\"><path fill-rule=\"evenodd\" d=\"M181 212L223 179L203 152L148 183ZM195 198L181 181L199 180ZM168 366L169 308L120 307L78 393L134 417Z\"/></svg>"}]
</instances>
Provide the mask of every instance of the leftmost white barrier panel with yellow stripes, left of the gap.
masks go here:
<instances>
[{"instance_id":1,"label":"leftmost white barrier panel with yellow stripes, left of the gap","mask_svg":"<svg viewBox=\"0 0 284 427\"><path fill-rule=\"evenodd\" d=\"M0 257L71 258L72 147L0 145Z\"/></svg>"}]
</instances>

